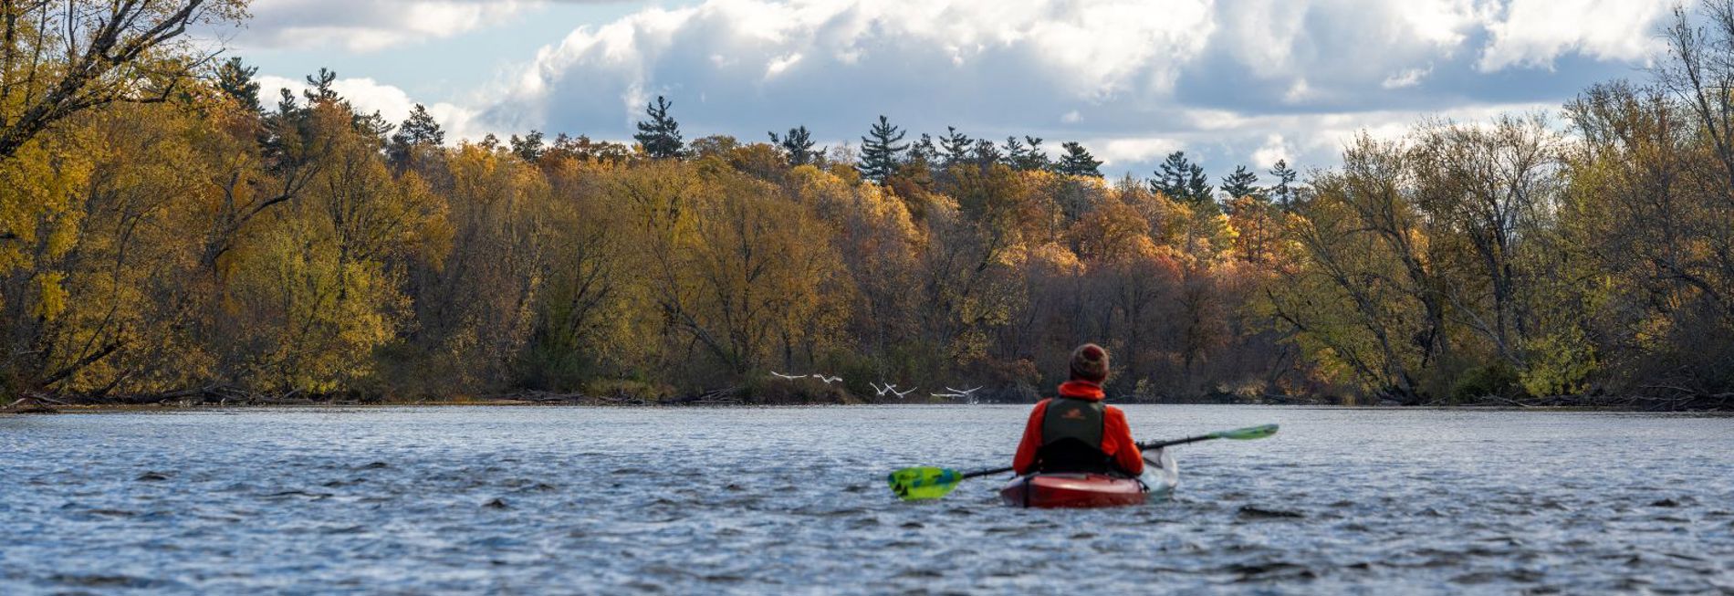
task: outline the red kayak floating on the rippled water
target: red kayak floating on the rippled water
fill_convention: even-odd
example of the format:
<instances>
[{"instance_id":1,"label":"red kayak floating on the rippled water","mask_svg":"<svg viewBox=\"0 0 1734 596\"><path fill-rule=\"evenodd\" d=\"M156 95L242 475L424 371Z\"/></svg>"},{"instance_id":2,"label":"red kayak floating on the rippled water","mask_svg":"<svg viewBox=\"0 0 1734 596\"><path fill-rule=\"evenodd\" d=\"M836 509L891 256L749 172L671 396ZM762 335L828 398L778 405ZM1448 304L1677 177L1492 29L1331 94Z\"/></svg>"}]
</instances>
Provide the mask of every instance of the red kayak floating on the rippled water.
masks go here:
<instances>
[{"instance_id":1,"label":"red kayak floating on the rippled water","mask_svg":"<svg viewBox=\"0 0 1734 596\"><path fill-rule=\"evenodd\" d=\"M1179 466L1164 450L1144 456L1150 464L1139 478L1094 473L1037 473L1011 478L999 490L1014 508L1117 508L1162 497L1179 483Z\"/></svg>"}]
</instances>

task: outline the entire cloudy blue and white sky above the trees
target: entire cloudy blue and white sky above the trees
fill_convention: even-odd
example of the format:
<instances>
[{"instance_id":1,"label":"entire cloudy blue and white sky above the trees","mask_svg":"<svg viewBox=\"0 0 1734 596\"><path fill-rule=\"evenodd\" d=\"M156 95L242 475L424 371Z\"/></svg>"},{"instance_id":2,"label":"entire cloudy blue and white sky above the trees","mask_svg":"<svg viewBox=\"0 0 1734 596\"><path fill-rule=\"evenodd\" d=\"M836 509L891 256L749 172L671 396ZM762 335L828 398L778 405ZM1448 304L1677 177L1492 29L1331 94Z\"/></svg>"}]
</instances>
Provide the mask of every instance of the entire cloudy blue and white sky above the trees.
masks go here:
<instances>
[{"instance_id":1,"label":"entire cloudy blue and white sky above the trees","mask_svg":"<svg viewBox=\"0 0 1734 596\"><path fill-rule=\"evenodd\" d=\"M629 140L657 95L687 139L805 125L1066 140L1110 177L1186 151L1212 178L1327 168L1353 135L1555 111L1647 78L1673 0L253 0L206 31L267 94L319 68L364 111L454 139Z\"/></svg>"}]
</instances>

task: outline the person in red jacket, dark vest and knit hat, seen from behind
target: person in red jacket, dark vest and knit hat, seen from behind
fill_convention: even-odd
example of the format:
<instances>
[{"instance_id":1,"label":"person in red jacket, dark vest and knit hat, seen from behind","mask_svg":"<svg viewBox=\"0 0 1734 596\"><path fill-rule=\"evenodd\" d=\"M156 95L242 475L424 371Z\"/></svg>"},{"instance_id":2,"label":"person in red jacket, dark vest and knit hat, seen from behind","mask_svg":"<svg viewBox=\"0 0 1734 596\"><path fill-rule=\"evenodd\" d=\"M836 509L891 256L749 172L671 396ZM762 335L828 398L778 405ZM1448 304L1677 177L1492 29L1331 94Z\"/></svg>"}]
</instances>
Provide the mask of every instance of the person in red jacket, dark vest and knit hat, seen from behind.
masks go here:
<instances>
[{"instance_id":1,"label":"person in red jacket, dark vest and knit hat, seen from behind","mask_svg":"<svg viewBox=\"0 0 1734 596\"><path fill-rule=\"evenodd\" d=\"M1108 350L1094 343L1072 350L1072 374L1059 385L1059 397L1035 404L1030 423L1023 426L1023 442L1011 461L1018 475L1144 473L1144 456L1125 424L1125 412L1101 402L1101 383L1106 379Z\"/></svg>"}]
</instances>

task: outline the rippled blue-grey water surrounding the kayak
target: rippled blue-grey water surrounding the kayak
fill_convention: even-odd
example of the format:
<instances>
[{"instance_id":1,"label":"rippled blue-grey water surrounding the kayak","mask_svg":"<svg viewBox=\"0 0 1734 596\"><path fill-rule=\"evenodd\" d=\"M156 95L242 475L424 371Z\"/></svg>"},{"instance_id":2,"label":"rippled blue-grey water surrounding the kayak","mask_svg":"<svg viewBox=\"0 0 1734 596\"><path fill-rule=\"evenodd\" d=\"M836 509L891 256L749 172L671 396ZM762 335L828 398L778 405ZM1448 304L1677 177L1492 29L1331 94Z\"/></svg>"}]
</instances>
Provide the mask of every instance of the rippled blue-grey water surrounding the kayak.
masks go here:
<instances>
[{"instance_id":1,"label":"rippled blue-grey water surrounding the kayak","mask_svg":"<svg viewBox=\"0 0 1734 596\"><path fill-rule=\"evenodd\" d=\"M1127 407L1169 502L1023 511L1027 407L0 418L0 594L1734 594L1734 418Z\"/></svg>"}]
</instances>

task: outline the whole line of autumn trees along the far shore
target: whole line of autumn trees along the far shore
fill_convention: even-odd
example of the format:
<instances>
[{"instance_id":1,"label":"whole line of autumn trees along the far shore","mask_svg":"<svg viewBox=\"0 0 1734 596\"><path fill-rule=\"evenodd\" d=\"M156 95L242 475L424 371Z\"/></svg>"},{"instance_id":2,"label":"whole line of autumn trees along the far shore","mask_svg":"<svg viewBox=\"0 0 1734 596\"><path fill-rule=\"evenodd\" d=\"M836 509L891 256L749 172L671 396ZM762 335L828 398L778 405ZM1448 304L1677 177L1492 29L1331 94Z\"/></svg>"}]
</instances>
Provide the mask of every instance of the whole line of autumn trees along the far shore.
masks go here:
<instances>
[{"instance_id":1,"label":"whole line of autumn trees along the far shore","mask_svg":"<svg viewBox=\"0 0 1734 596\"><path fill-rule=\"evenodd\" d=\"M909 132L447 140L182 38L239 2L23 2L0 47L0 383L45 400L553 392L1725 407L1734 9L1557 116L1212 184ZM52 49L52 50L43 50ZM73 49L68 52L66 49ZM772 372L820 372L838 383Z\"/></svg>"}]
</instances>

